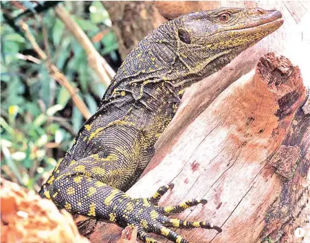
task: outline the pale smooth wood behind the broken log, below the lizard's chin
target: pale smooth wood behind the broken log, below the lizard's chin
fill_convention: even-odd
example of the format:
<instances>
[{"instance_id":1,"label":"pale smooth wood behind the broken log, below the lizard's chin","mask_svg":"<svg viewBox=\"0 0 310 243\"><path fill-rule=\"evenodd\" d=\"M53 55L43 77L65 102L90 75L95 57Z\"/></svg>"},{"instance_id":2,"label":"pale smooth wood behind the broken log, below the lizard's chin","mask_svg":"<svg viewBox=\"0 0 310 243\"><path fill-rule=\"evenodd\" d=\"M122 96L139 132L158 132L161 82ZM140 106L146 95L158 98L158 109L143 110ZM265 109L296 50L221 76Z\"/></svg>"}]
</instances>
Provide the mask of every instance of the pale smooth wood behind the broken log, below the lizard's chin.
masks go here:
<instances>
[{"instance_id":1,"label":"pale smooth wood behind the broken log, below the lizard's chin","mask_svg":"<svg viewBox=\"0 0 310 243\"><path fill-rule=\"evenodd\" d=\"M236 7L241 4L234 1L228 1L227 3L221 1L220 3L221 7ZM204 4L206 5L203 5L202 9L208 9L208 3L206 2ZM195 83L190 89L186 90L184 97L182 98L182 105L179 107L177 115L173 118L173 121L157 142L157 151L151 165L156 166L158 162L161 161L162 156L164 156L167 151L169 151L170 147L177 142L179 136L184 132L184 129L186 129L186 127L190 125L190 123L192 123L192 121L195 120L195 118L199 116L199 114L201 114L201 112L203 112L203 110L206 109L206 107L208 107L208 105L210 105L210 103L212 103L212 101L214 101L214 99L217 98L225 88L236 81L236 79L240 78L243 74L252 70L258 59L267 52L274 52L277 55L285 55L293 61L294 64L299 65L302 74L305 77L309 77L305 78L305 82L310 86L310 72L307 67L308 62L306 59L301 59L301 56L310 55L310 31L307 30L307 28L304 28L310 20L309 12L307 12L307 16L303 15L299 17L300 19L304 18L306 23L302 22L297 24L291 16L291 12L287 10L287 7L283 2L245 1L245 7L280 10L285 22L276 32L270 34L265 39L237 56L236 59L224 67L223 70L203 79L203 81L199 83ZM306 35L308 36L308 39L305 39Z\"/></svg>"}]
</instances>

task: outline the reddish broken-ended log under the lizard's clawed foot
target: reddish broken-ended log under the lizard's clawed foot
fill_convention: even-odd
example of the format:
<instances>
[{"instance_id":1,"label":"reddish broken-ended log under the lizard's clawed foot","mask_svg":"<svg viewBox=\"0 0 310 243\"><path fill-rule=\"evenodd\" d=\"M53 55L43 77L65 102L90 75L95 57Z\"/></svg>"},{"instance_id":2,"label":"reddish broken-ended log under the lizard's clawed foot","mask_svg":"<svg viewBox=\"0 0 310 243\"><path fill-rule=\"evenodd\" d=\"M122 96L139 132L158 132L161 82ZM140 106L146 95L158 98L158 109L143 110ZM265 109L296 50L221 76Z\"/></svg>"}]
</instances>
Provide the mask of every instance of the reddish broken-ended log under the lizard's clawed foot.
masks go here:
<instances>
[{"instance_id":1,"label":"reddish broken-ended log under the lizard's clawed foot","mask_svg":"<svg viewBox=\"0 0 310 243\"><path fill-rule=\"evenodd\" d=\"M208 198L206 207L179 218L208 219L221 225L223 233L181 231L190 241L264 242L278 237L294 242L294 227L307 221L310 118L301 111L305 98L298 67L268 54L255 72L239 78L197 117L129 195L148 197L173 182L176 187L162 204ZM116 242L119 231L115 225L98 224L90 240Z\"/></svg>"}]
</instances>

